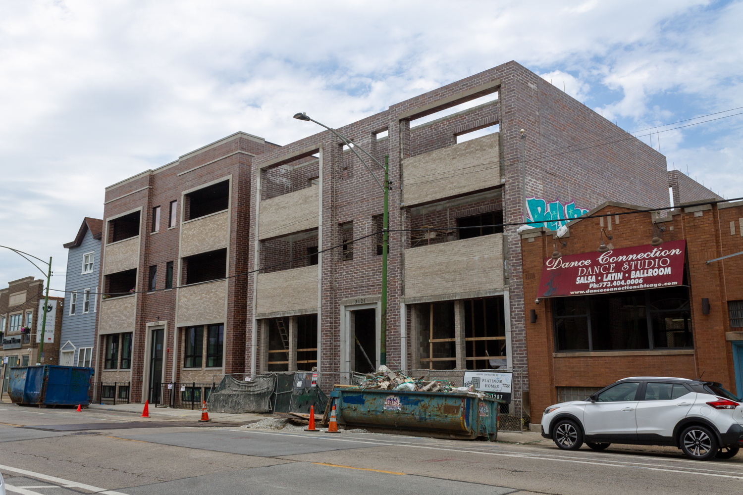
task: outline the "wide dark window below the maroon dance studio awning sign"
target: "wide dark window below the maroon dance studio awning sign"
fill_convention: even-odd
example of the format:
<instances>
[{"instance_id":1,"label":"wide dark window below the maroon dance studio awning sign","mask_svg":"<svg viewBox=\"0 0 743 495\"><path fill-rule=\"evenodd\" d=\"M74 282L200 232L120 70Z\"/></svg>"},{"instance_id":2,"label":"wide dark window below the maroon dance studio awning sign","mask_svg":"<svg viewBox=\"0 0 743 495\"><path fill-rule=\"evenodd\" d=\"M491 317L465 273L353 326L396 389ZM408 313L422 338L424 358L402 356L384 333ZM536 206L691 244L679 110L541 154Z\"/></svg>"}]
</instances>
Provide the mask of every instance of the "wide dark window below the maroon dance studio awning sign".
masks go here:
<instances>
[{"instance_id":1,"label":"wide dark window below the maroon dance studio awning sign","mask_svg":"<svg viewBox=\"0 0 743 495\"><path fill-rule=\"evenodd\" d=\"M554 298L555 349L692 349L689 289L684 286Z\"/></svg>"}]
</instances>

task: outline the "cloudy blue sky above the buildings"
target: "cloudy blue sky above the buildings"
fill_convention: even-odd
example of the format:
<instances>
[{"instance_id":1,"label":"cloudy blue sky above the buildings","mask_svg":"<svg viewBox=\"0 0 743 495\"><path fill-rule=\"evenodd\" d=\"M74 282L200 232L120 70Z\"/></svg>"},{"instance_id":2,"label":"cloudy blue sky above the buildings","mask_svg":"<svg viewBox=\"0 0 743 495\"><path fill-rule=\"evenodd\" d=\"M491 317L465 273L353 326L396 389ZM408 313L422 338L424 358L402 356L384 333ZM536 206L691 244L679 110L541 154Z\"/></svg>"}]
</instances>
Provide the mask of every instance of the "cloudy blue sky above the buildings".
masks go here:
<instances>
[{"instance_id":1,"label":"cloudy blue sky above the buildings","mask_svg":"<svg viewBox=\"0 0 743 495\"><path fill-rule=\"evenodd\" d=\"M106 186L236 131L316 133L297 111L345 125L510 60L743 197L742 25L743 1L4 1L0 245L52 256L63 289L62 244L103 216ZM0 248L0 287L29 275Z\"/></svg>"}]
</instances>

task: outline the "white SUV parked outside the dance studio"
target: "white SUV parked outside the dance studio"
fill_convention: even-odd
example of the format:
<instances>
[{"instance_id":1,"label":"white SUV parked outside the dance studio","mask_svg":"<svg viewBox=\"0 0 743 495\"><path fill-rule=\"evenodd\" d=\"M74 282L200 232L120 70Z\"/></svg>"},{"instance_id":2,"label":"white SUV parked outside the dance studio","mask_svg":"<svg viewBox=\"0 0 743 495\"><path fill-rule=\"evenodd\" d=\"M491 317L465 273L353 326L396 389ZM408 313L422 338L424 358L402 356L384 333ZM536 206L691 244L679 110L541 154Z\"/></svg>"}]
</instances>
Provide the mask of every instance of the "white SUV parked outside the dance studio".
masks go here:
<instances>
[{"instance_id":1,"label":"white SUV parked outside the dance studio","mask_svg":"<svg viewBox=\"0 0 743 495\"><path fill-rule=\"evenodd\" d=\"M633 376L584 401L555 404L542 416L542 436L559 448L612 443L675 445L692 459L728 459L743 446L743 406L713 381Z\"/></svg>"}]
</instances>

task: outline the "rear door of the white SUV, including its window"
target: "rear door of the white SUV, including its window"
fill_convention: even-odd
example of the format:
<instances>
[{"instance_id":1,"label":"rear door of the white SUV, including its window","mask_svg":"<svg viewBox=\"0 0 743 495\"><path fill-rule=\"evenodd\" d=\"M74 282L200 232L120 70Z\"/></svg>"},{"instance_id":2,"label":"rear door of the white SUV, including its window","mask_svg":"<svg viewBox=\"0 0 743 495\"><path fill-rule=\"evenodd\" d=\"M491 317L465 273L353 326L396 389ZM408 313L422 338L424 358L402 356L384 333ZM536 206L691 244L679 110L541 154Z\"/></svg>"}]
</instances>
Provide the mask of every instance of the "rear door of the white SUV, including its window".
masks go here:
<instances>
[{"instance_id":1,"label":"rear door of the white SUV, including its window","mask_svg":"<svg viewBox=\"0 0 743 495\"><path fill-rule=\"evenodd\" d=\"M643 400L637 403L637 435L673 436L673 427L684 419L697 394L682 384L648 383Z\"/></svg>"}]
</instances>

